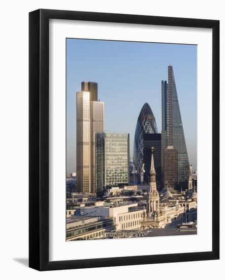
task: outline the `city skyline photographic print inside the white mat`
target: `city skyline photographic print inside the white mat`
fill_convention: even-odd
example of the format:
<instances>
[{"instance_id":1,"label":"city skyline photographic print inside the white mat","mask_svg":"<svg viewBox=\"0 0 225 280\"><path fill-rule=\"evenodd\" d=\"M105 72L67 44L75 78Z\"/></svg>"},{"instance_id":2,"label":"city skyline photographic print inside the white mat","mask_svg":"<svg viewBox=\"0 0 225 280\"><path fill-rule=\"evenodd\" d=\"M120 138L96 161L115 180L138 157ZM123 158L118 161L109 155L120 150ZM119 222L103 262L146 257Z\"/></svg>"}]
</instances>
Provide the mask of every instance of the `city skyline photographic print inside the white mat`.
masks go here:
<instances>
[{"instance_id":1,"label":"city skyline photographic print inside the white mat","mask_svg":"<svg viewBox=\"0 0 225 280\"><path fill-rule=\"evenodd\" d=\"M66 39L66 240L197 234L197 45Z\"/></svg>"}]
</instances>

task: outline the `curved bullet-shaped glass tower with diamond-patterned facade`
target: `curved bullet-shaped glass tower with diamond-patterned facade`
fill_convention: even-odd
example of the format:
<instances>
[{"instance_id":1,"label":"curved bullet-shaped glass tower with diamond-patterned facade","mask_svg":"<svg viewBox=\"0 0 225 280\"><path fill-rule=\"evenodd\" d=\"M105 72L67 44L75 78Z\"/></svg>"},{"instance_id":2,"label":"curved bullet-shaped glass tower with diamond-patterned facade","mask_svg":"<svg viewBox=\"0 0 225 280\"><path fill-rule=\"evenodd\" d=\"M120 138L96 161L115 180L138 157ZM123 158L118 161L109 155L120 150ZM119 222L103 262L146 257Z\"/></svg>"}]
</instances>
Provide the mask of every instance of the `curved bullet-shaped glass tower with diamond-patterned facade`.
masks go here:
<instances>
[{"instance_id":1,"label":"curved bullet-shaped glass tower with diamond-patterned facade","mask_svg":"<svg viewBox=\"0 0 225 280\"><path fill-rule=\"evenodd\" d=\"M157 133L155 117L148 103L145 103L140 111L134 139L134 166L138 174L143 166L143 134Z\"/></svg>"}]
</instances>

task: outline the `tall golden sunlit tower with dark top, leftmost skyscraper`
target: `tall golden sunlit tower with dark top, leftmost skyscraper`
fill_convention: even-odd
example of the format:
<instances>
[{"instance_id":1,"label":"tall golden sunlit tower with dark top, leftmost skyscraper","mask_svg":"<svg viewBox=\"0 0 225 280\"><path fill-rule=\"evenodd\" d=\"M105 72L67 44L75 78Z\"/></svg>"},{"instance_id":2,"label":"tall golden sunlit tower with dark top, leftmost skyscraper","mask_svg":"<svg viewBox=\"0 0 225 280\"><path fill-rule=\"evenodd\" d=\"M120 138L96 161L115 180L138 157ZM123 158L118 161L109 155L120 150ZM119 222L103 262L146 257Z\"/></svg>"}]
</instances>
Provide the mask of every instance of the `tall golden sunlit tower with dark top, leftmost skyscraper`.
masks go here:
<instances>
[{"instance_id":1,"label":"tall golden sunlit tower with dark top, leftmost skyscraper","mask_svg":"<svg viewBox=\"0 0 225 280\"><path fill-rule=\"evenodd\" d=\"M98 84L82 82L77 92L77 190L95 192L95 133L104 131L104 102Z\"/></svg>"}]
</instances>

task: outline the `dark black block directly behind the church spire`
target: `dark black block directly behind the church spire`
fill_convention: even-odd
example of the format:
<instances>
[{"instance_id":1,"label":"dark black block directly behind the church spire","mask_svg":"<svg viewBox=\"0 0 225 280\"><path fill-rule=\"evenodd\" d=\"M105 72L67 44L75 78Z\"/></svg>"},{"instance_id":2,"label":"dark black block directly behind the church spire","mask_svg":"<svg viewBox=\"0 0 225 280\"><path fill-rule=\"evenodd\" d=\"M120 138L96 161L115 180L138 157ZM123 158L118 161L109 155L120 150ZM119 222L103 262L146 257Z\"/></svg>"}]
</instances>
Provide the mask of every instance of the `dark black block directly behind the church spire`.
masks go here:
<instances>
[{"instance_id":1,"label":"dark black block directly behind the church spire","mask_svg":"<svg viewBox=\"0 0 225 280\"><path fill-rule=\"evenodd\" d=\"M143 162L145 164L144 182L149 183L149 172L151 166L151 147L154 147L154 167L156 172L156 185L161 188L161 134L143 134Z\"/></svg>"}]
</instances>

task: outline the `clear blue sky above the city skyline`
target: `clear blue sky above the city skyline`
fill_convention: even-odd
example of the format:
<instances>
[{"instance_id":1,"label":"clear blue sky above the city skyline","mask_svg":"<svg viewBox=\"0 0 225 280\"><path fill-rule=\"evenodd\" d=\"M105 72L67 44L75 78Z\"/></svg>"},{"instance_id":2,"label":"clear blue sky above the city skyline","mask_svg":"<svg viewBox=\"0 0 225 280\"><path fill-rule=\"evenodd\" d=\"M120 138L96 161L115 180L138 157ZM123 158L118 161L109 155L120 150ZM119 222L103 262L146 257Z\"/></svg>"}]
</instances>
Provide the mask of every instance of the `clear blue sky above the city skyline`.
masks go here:
<instances>
[{"instance_id":1,"label":"clear blue sky above the city skyline","mask_svg":"<svg viewBox=\"0 0 225 280\"><path fill-rule=\"evenodd\" d=\"M161 80L173 66L190 164L197 169L197 46L67 39L67 173L76 171L76 92L98 82L105 102L105 130L134 133L147 102L162 128Z\"/></svg>"}]
</instances>

